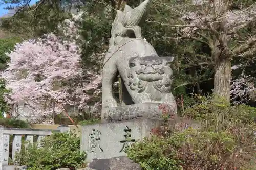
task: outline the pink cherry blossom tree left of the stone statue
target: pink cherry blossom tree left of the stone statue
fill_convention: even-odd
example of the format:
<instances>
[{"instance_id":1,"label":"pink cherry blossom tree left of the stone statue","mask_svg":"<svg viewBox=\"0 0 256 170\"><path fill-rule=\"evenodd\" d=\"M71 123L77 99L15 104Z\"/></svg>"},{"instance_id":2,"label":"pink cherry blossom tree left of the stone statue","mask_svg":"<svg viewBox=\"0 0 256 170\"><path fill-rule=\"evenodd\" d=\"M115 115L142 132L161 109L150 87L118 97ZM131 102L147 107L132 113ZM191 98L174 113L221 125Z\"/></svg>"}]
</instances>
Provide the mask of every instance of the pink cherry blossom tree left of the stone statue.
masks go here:
<instances>
[{"instance_id":1,"label":"pink cherry blossom tree left of the stone statue","mask_svg":"<svg viewBox=\"0 0 256 170\"><path fill-rule=\"evenodd\" d=\"M75 22L65 20L60 27L66 38L50 33L18 43L7 53L10 62L2 78L12 92L6 100L15 106L26 106L34 119L50 116L53 111L60 114L66 106L84 109L101 92L100 73L80 67ZM100 101L95 105L100 105Z\"/></svg>"}]
</instances>

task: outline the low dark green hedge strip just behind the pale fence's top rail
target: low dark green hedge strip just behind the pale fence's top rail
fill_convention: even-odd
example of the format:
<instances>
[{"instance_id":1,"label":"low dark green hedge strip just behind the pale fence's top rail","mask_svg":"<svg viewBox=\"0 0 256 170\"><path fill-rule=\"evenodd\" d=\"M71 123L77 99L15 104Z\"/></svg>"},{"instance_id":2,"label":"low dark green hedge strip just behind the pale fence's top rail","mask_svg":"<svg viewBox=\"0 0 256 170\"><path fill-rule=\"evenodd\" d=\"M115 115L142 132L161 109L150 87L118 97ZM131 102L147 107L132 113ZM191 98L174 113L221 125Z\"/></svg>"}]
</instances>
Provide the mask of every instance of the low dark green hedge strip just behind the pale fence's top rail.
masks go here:
<instances>
[{"instance_id":1,"label":"low dark green hedge strip just behind the pale fence's top rail","mask_svg":"<svg viewBox=\"0 0 256 170\"><path fill-rule=\"evenodd\" d=\"M29 128L29 124L23 120L12 118L0 118L0 125L6 128Z\"/></svg>"}]
</instances>

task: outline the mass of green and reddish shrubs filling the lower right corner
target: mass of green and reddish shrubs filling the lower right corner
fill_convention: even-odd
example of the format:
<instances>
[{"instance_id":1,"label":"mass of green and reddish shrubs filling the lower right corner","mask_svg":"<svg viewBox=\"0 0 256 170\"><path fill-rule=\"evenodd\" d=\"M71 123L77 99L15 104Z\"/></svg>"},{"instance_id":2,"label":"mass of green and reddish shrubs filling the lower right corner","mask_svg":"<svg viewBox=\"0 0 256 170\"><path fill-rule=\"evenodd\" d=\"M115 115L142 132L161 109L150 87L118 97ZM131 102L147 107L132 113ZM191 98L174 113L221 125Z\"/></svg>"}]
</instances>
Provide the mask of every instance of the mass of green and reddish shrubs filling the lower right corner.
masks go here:
<instances>
[{"instance_id":1,"label":"mass of green and reddish shrubs filling the lower right corner","mask_svg":"<svg viewBox=\"0 0 256 170\"><path fill-rule=\"evenodd\" d=\"M201 120L202 128L146 138L128 149L128 156L147 170L255 169L255 108L202 96L196 101L183 115Z\"/></svg>"}]
</instances>

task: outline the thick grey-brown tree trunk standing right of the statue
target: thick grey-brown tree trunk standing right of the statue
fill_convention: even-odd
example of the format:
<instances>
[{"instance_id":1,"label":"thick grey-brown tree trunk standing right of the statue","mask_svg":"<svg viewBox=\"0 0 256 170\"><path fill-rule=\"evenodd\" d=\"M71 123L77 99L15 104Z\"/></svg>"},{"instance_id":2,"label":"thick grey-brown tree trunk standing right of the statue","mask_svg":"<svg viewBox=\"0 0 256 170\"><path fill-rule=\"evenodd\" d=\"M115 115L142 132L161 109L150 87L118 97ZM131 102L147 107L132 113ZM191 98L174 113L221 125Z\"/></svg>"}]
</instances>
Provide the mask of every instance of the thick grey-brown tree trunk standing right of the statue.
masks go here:
<instances>
[{"instance_id":1,"label":"thick grey-brown tree trunk standing right of the statue","mask_svg":"<svg viewBox=\"0 0 256 170\"><path fill-rule=\"evenodd\" d=\"M213 56L215 61L215 74L214 74L214 93L218 96L225 98L227 102L230 101L230 79L231 79L231 58L228 49L227 39L227 18L226 11L228 1L214 0L215 19L221 15L222 22L213 24L214 33L214 48Z\"/></svg>"}]
</instances>

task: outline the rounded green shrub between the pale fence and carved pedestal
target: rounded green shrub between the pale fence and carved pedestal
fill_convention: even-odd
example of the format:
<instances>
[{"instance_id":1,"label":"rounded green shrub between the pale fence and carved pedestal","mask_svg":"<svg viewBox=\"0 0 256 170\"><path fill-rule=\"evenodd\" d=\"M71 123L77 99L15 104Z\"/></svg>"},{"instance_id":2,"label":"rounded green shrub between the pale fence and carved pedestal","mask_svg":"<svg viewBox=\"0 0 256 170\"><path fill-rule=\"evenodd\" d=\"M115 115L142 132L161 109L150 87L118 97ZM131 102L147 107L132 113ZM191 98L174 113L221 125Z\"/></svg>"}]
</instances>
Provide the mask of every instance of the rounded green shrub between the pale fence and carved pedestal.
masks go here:
<instances>
[{"instance_id":1,"label":"rounded green shrub between the pale fence and carved pedestal","mask_svg":"<svg viewBox=\"0 0 256 170\"><path fill-rule=\"evenodd\" d=\"M28 170L79 168L86 158L80 153L80 138L74 133L53 133L42 140L41 147L30 144L16 155L18 164Z\"/></svg>"}]
</instances>

